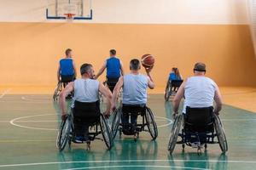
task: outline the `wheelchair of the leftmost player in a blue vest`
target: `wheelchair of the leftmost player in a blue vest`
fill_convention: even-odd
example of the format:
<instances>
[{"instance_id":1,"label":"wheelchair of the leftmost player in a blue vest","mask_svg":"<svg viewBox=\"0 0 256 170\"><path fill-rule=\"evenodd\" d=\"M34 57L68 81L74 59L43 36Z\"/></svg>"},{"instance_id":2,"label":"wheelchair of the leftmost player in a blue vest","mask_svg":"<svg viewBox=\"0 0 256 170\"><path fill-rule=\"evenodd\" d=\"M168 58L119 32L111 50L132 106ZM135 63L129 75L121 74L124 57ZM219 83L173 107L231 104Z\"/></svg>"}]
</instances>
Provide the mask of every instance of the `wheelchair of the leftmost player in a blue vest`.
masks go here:
<instances>
[{"instance_id":1,"label":"wheelchair of the leftmost player in a blue vest","mask_svg":"<svg viewBox=\"0 0 256 170\"><path fill-rule=\"evenodd\" d=\"M75 80L75 77L73 76L61 76L61 81L58 82L57 86L55 87L55 92L53 94L53 99L57 100L61 90L67 86L68 82L73 82ZM73 96L73 94L71 94Z\"/></svg>"}]
</instances>

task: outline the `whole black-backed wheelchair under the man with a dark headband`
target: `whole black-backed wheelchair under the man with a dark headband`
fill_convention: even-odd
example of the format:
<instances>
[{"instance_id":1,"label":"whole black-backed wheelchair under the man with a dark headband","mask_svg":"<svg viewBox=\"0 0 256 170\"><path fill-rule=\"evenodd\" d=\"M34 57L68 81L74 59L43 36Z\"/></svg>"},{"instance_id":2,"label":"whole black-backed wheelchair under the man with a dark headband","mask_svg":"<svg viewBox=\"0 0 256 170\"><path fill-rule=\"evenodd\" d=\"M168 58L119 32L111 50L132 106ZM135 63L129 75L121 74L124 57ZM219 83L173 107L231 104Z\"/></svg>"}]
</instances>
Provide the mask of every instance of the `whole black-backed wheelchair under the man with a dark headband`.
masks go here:
<instances>
[{"instance_id":1,"label":"whole black-backed wheelchair under the man with a dark headband","mask_svg":"<svg viewBox=\"0 0 256 170\"><path fill-rule=\"evenodd\" d=\"M183 126L181 133L180 129ZM181 140L177 141L180 137ZM217 137L217 141L215 141ZM173 122L168 150L170 154L176 144L182 144L197 148L201 155L201 148L207 150L207 144L219 144L223 153L228 151L228 142L224 133L224 127L219 116L213 113L213 107L186 108L186 114L178 114Z\"/></svg>"}]
</instances>

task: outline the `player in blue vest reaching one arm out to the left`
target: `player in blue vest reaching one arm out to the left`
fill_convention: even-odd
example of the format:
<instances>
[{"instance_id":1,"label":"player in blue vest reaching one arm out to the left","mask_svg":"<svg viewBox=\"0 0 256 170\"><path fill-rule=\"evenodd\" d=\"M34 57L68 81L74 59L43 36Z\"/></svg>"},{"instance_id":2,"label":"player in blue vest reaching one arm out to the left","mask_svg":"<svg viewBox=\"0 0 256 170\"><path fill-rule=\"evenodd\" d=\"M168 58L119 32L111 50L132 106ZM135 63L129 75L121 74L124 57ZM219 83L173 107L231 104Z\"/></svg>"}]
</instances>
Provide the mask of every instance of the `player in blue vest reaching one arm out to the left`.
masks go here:
<instances>
[{"instance_id":1,"label":"player in blue vest reaching one arm out to the left","mask_svg":"<svg viewBox=\"0 0 256 170\"><path fill-rule=\"evenodd\" d=\"M116 57L116 51L111 49L109 51L110 57L105 61L101 70L96 74L96 79L100 77L107 68L107 84L110 91L113 93L113 88L119 81L119 77L124 75L124 68L119 58Z\"/></svg>"}]
</instances>

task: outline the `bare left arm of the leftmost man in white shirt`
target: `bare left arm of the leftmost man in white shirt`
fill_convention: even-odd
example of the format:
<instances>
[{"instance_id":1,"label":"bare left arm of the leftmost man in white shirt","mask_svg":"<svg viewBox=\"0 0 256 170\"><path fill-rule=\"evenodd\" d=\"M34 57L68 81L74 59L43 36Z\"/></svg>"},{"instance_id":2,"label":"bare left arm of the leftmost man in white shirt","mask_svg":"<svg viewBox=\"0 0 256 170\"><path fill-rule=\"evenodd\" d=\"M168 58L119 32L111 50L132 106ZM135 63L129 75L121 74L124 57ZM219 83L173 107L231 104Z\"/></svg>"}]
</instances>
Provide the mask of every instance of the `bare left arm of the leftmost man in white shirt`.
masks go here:
<instances>
[{"instance_id":1,"label":"bare left arm of the leftmost man in white shirt","mask_svg":"<svg viewBox=\"0 0 256 170\"><path fill-rule=\"evenodd\" d=\"M59 104L60 104L60 107L61 107L61 118L62 120L64 119L64 117L67 115L67 111L66 111L66 97L68 94L70 94L72 91L73 91L73 87L74 87L74 82L69 82L66 86L66 88L64 88L62 91L61 91L61 94L60 94L60 101L59 101Z\"/></svg>"}]
</instances>

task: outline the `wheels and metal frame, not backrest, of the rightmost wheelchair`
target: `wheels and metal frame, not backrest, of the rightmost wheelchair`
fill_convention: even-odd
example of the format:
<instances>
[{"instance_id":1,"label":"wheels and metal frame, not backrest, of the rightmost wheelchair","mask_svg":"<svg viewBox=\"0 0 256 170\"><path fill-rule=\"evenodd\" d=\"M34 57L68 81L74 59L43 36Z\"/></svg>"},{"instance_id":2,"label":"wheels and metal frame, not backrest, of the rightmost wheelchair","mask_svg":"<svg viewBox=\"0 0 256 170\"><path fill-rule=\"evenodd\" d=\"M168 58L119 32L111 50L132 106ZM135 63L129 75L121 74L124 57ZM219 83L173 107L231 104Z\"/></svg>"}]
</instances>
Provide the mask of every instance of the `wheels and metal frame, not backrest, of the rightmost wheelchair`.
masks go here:
<instances>
[{"instance_id":1,"label":"wheels and metal frame, not backrest, of the rightmost wheelchair","mask_svg":"<svg viewBox=\"0 0 256 170\"><path fill-rule=\"evenodd\" d=\"M213 123L212 132L210 132L210 133L207 133L207 132L205 132L205 133L189 132L189 135L190 135L190 137L192 135L194 135L199 139L200 135L204 134L205 137L207 138L207 142L204 143L206 150L207 150L207 144L219 144L220 149L222 150L223 153L225 153L226 151L228 151L228 143L227 143L226 136L224 134L224 127L223 127L222 122L220 121L219 116L213 114L213 122L212 123ZM181 128L182 124L183 124L183 129L182 129L182 133L180 133L180 128ZM189 140L186 139L187 135L188 135L188 132L185 132L185 130L184 130L184 116L183 116L183 114L178 114L175 117L175 120L173 122L172 132L170 134L170 139L169 139L169 142L168 142L168 148L167 149L170 151L170 154L172 154L176 144L182 144L183 150L185 148L185 144L191 146L191 144L189 144ZM181 137L181 141L177 141L178 136ZM215 137L217 137L218 142L214 141ZM197 150L198 154L201 154L200 144L198 144L197 149L198 149Z\"/></svg>"}]
</instances>

